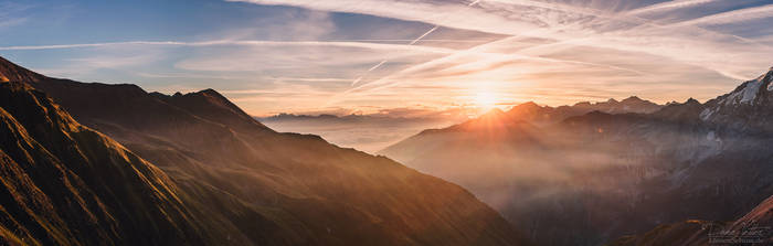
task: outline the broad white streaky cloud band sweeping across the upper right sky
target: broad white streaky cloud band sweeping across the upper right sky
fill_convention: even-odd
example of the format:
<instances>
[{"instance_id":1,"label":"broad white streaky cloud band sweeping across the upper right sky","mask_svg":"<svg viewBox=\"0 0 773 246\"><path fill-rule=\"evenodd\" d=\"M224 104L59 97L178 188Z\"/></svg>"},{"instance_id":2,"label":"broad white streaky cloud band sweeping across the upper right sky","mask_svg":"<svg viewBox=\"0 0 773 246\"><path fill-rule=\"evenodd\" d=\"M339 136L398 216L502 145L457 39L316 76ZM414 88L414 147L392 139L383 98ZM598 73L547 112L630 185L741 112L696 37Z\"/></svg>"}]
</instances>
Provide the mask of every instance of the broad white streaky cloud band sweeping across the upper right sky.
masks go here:
<instances>
[{"instance_id":1,"label":"broad white streaky cloud band sweeping across the upper right sky","mask_svg":"<svg viewBox=\"0 0 773 246\"><path fill-rule=\"evenodd\" d=\"M754 76L759 67L766 66L761 62L765 57L763 54L771 53L769 46L749 45L746 41L739 40L732 34L707 31L692 25L655 24L655 20L635 17L626 11L614 12L564 3L491 0L481 1L476 8L467 8L460 2L428 0L242 1L294 6L320 11L353 12L512 36L547 39L563 43L571 49L593 46L657 55L674 62L716 71L737 79ZM634 10L634 13L665 12L708 2L710 1L663 3ZM612 6L615 3L613 2ZM707 17L703 20L696 19L696 21L698 23L737 22L749 19L749 17L741 18L739 14L754 13L756 15L752 18L759 18L770 13L765 10L766 7L738 10L739 13L729 12ZM462 12L464 14L454 14ZM549 53L550 51L543 50L539 54L530 55L549 55Z\"/></svg>"}]
</instances>

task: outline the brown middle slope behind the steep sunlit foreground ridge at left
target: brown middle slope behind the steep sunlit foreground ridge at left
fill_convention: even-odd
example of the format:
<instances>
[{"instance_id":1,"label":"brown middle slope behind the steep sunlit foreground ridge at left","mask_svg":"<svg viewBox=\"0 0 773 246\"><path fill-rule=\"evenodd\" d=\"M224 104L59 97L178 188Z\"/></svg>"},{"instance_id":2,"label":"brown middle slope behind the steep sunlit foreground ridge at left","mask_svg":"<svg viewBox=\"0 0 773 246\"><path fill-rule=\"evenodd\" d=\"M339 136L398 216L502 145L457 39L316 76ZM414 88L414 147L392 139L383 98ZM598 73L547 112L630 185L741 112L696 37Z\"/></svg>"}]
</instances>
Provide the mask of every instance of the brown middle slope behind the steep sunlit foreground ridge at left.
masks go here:
<instances>
[{"instance_id":1,"label":"brown middle slope behind the steep sunlit foreground ridge at left","mask_svg":"<svg viewBox=\"0 0 773 246\"><path fill-rule=\"evenodd\" d=\"M166 96L134 85L85 84L27 69L24 75L8 71L0 73L3 77L40 76L25 83L49 94L75 120L158 165L157 172L168 175L165 183L190 194L191 199L178 204L222 214L212 218L226 224L211 231L215 242L223 242L222 237L275 245L523 242L494 210L457 185L386 158L335 147L316 136L277 133L211 89ZM106 186L134 188L121 183ZM134 207L135 203L121 204ZM135 223L147 226L142 217ZM124 231L116 232L123 236ZM220 244L183 235L180 237L193 243L180 244Z\"/></svg>"}]
</instances>

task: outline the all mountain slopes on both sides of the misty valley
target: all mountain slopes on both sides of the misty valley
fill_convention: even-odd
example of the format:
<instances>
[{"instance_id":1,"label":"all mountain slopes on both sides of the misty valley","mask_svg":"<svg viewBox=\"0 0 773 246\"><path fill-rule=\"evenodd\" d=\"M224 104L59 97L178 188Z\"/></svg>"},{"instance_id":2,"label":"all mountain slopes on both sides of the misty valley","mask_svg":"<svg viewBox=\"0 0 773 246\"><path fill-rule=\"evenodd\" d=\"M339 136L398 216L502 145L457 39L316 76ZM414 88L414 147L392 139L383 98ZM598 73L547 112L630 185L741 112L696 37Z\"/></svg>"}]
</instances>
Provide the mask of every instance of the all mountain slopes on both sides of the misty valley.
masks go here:
<instances>
[{"instance_id":1,"label":"all mountain slopes on both sides of the misty valley","mask_svg":"<svg viewBox=\"0 0 773 246\"><path fill-rule=\"evenodd\" d=\"M381 151L416 171L277 132L213 89L0 57L0 244L770 244L771 83L773 68L703 104L494 109Z\"/></svg>"}]
</instances>

